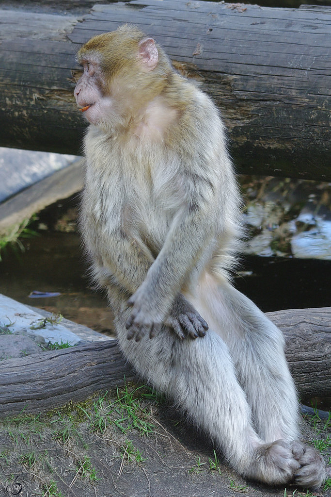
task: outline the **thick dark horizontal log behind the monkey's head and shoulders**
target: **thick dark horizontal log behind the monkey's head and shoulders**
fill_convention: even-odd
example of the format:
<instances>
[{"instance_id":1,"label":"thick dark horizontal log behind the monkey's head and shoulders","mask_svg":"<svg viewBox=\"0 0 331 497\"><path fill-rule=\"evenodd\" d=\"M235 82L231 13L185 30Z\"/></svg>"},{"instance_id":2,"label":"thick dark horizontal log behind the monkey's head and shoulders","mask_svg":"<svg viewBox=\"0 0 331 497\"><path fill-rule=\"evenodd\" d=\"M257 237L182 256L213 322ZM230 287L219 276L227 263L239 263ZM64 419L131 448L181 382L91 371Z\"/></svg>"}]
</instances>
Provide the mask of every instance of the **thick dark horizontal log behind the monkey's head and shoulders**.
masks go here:
<instances>
[{"instance_id":1,"label":"thick dark horizontal log behind the monkey's head and shoulders","mask_svg":"<svg viewBox=\"0 0 331 497\"><path fill-rule=\"evenodd\" d=\"M0 145L77 153L74 54L134 22L214 98L238 171L331 179L331 8L138 0L67 2L55 15L45 0L13 4L0 10Z\"/></svg>"}]
</instances>

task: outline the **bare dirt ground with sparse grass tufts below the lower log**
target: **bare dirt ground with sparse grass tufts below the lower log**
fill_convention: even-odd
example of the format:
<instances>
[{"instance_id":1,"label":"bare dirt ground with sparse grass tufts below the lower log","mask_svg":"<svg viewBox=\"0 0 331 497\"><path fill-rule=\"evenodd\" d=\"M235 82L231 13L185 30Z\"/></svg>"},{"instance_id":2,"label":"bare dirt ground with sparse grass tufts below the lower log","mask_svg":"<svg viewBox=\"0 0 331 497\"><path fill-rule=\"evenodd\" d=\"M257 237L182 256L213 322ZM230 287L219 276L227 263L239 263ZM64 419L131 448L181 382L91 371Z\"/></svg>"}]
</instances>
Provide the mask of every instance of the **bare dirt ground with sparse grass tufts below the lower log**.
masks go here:
<instances>
[{"instance_id":1,"label":"bare dirt ground with sparse grass tufts below the lower log","mask_svg":"<svg viewBox=\"0 0 331 497\"><path fill-rule=\"evenodd\" d=\"M330 420L307 418L303 432L322 449L329 483L315 493L268 488L224 465L167 401L129 385L51 413L0 421L0 496L329 497Z\"/></svg>"}]
</instances>

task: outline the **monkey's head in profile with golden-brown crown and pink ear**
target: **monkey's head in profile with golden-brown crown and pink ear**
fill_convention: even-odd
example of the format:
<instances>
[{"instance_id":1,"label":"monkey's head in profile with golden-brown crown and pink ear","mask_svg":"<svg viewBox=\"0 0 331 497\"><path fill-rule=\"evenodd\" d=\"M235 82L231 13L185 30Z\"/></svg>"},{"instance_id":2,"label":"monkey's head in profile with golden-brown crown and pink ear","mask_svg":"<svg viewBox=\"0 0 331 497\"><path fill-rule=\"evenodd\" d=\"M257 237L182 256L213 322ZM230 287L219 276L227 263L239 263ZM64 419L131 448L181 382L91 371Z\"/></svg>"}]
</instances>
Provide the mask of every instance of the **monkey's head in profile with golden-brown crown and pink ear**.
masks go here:
<instances>
[{"instance_id":1,"label":"monkey's head in profile with golden-brown crown and pink ear","mask_svg":"<svg viewBox=\"0 0 331 497\"><path fill-rule=\"evenodd\" d=\"M132 27L91 38L77 54L83 74L74 90L87 120L106 130L134 122L163 87L158 55L154 40Z\"/></svg>"}]
</instances>

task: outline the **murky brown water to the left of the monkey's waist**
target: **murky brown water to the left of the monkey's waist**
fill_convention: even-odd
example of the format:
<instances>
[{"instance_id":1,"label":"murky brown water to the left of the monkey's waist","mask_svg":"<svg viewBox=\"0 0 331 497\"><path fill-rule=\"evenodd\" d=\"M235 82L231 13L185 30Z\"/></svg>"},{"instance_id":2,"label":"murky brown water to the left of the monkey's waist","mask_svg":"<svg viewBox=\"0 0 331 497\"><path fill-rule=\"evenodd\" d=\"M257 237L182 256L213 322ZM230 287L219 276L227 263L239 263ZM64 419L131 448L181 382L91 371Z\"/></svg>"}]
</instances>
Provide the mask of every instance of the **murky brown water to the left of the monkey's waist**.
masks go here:
<instances>
[{"instance_id":1,"label":"murky brown water to the left of the monkey's waist","mask_svg":"<svg viewBox=\"0 0 331 497\"><path fill-rule=\"evenodd\" d=\"M60 312L65 318L96 331L112 328L106 299L89 286L77 234L46 231L24 245L26 250L19 257L10 248L2 254L0 293L23 304ZM61 292L61 295L29 298L33 291Z\"/></svg>"}]
</instances>

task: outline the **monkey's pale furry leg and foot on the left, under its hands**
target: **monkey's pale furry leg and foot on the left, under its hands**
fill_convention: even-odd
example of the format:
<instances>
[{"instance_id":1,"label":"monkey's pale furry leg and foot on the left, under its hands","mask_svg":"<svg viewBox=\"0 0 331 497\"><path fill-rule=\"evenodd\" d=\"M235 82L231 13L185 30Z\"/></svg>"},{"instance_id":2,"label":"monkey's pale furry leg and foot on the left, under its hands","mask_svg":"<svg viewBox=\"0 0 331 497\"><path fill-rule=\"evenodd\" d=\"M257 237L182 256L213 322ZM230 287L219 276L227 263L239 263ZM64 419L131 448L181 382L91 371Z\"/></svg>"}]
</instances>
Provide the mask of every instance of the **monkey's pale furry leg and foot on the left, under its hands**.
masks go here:
<instances>
[{"instance_id":1,"label":"monkey's pale furry leg and foot on the left, under its hands","mask_svg":"<svg viewBox=\"0 0 331 497\"><path fill-rule=\"evenodd\" d=\"M125 314L116 320L118 338L135 369L174 398L240 474L269 484L291 482L299 463L289 444L265 444L255 432L251 409L220 336L209 330L201 340L181 341L164 330L152 340L145 336L136 343L126 339Z\"/></svg>"}]
</instances>

